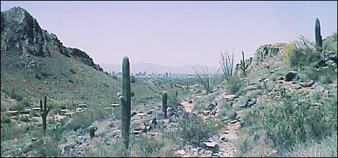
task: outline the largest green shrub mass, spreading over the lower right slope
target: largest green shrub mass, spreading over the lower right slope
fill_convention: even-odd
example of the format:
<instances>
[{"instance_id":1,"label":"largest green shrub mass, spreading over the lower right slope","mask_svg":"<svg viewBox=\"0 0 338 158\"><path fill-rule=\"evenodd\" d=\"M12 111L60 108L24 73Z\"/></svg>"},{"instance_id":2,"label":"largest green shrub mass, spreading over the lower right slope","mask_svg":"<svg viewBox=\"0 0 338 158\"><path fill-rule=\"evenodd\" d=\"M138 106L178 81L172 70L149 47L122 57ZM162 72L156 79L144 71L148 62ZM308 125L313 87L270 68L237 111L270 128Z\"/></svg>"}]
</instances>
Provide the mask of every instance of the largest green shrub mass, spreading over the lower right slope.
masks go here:
<instances>
[{"instance_id":1,"label":"largest green shrub mass, spreading over the lower right slope","mask_svg":"<svg viewBox=\"0 0 338 158\"><path fill-rule=\"evenodd\" d=\"M337 96L325 100L320 107L311 103L297 105L303 97L299 94L285 92L282 96L282 103L265 105L245 116L246 126L265 131L274 147L289 149L308 138L320 140L337 131Z\"/></svg>"}]
</instances>

